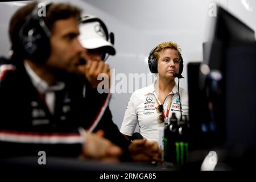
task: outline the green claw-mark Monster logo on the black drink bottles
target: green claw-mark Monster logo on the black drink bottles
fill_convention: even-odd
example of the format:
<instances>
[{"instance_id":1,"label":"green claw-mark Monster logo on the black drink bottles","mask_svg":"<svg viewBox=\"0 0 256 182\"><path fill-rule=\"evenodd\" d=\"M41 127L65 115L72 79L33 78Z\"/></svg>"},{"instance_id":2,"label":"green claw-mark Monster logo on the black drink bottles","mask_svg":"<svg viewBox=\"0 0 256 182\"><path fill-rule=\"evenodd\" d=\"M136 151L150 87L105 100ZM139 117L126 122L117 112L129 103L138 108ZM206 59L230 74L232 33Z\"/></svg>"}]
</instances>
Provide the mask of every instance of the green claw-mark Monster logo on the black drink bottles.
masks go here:
<instances>
[{"instance_id":1,"label":"green claw-mark Monster logo on the black drink bottles","mask_svg":"<svg viewBox=\"0 0 256 182\"><path fill-rule=\"evenodd\" d=\"M187 142L175 142L176 146L176 162L177 165L183 165L184 164L184 158L185 162L188 162L188 143ZM184 156L185 152L185 156Z\"/></svg>"}]
</instances>

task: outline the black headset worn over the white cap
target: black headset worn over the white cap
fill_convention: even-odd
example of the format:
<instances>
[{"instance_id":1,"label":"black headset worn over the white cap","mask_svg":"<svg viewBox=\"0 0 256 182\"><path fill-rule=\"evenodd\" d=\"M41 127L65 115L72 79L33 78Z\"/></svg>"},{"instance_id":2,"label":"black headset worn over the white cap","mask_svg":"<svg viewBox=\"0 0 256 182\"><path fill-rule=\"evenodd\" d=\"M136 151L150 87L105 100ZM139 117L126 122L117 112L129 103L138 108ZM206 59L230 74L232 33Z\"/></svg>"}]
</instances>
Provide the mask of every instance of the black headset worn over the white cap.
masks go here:
<instances>
[{"instance_id":1,"label":"black headset worn over the white cap","mask_svg":"<svg viewBox=\"0 0 256 182\"><path fill-rule=\"evenodd\" d=\"M106 27L105 23L100 18L97 18L97 17L92 16L92 15L84 15L79 20L79 23L91 23L91 22L100 23L102 29L105 32L106 41L109 41L110 43L112 43L114 45L114 33L110 32L110 34L109 34L108 28ZM107 58L108 57L106 57L106 53L104 53L101 57L101 60L106 60Z\"/></svg>"}]
</instances>

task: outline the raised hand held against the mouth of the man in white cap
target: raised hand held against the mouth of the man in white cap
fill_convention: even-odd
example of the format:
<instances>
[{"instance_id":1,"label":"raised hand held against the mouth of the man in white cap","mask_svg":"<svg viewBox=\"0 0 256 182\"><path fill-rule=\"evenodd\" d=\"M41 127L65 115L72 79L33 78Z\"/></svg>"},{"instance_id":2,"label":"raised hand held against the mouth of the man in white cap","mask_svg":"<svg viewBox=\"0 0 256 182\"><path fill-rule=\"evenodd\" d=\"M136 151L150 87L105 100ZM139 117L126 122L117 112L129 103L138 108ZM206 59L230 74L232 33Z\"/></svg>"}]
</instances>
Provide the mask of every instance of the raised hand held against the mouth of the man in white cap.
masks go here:
<instances>
[{"instance_id":1,"label":"raised hand held against the mouth of the man in white cap","mask_svg":"<svg viewBox=\"0 0 256 182\"><path fill-rule=\"evenodd\" d=\"M110 88L110 68L104 61L88 61L85 65L81 65L79 70L85 75L93 88L97 88L98 84L102 81L98 80L98 75L102 73L101 77L108 79L108 88Z\"/></svg>"}]
</instances>

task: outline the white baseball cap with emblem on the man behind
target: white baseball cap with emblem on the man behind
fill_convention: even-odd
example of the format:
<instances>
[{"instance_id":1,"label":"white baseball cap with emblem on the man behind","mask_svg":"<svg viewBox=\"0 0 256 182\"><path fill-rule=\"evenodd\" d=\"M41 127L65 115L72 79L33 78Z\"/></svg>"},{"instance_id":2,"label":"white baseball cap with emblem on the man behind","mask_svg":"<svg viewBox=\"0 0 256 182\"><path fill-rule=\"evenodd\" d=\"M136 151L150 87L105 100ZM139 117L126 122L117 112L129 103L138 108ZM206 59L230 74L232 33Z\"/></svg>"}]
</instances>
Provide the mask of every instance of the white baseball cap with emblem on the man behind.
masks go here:
<instances>
[{"instance_id":1,"label":"white baseball cap with emblem on the man behind","mask_svg":"<svg viewBox=\"0 0 256 182\"><path fill-rule=\"evenodd\" d=\"M79 25L79 40L82 47L86 49L95 49L104 47L110 55L115 55L115 49L112 43L106 40L106 33L101 27L100 22L84 22Z\"/></svg>"}]
</instances>

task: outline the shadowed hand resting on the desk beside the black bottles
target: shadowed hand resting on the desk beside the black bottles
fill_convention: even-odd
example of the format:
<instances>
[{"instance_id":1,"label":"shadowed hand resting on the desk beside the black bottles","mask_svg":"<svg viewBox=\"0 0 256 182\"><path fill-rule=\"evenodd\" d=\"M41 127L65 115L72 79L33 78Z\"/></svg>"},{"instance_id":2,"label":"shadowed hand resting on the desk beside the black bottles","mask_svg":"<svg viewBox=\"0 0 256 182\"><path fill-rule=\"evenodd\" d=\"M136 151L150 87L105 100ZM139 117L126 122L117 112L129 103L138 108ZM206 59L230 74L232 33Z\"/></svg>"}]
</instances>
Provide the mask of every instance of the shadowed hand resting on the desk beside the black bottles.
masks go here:
<instances>
[{"instance_id":1,"label":"shadowed hand resting on the desk beside the black bottles","mask_svg":"<svg viewBox=\"0 0 256 182\"><path fill-rule=\"evenodd\" d=\"M130 144L129 151L135 162L163 162L162 150L158 147L157 142L137 139Z\"/></svg>"}]
</instances>

